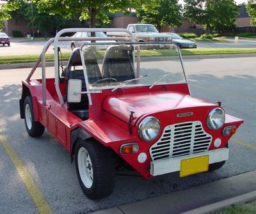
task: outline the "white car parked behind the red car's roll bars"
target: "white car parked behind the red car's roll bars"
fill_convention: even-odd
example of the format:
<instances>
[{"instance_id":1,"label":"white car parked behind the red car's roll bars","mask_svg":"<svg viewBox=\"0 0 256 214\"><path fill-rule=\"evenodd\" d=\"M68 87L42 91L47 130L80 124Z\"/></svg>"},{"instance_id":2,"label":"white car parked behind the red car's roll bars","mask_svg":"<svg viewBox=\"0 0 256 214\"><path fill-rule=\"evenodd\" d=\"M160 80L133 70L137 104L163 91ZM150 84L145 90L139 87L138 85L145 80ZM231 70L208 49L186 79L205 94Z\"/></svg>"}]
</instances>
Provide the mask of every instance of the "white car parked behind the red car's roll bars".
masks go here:
<instances>
[{"instance_id":1,"label":"white car parked behind the red car's roll bars","mask_svg":"<svg viewBox=\"0 0 256 214\"><path fill-rule=\"evenodd\" d=\"M77 32L72 37L73 38L88 38L88 37L91 37L91 33L90 32ZM103 32L95 32L95 37L106 38L108 36L106 36L106 34ZM86 42L90 43L91 41L86 41ZM104 41L104 40L97 40L96 42L100 42L100 43L108 42L109 43L109 41ZM111 42L115 43L115 41L111 41ZM73 40L70 42L70 47L72 50L74 50L76 47L80 47L83 43L84 43L84 41ZM102 49L104 49L104 47L102 47Z\"/></svg>"}]
</instances>

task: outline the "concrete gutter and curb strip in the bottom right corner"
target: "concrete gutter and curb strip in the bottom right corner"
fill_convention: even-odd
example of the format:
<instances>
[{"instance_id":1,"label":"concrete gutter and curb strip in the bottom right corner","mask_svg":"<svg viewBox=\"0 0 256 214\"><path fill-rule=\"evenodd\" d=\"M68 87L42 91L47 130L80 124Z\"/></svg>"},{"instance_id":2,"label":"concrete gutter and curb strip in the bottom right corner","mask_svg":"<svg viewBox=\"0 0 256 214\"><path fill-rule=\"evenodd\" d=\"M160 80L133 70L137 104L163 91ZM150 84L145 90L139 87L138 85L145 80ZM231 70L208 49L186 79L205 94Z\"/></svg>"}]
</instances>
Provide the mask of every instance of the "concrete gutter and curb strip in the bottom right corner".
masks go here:
<instances>
[{"instance_id":1,"label":"concrete gutter and curb strip in the bottom right corner","mask_svg":"<svg viewBox=\"0 0 256 214\"><path fill-rule=\"evenodd\" d=\"M256 171L92 214L200 214L256 199Z\"/></svg>"}]
</instances>

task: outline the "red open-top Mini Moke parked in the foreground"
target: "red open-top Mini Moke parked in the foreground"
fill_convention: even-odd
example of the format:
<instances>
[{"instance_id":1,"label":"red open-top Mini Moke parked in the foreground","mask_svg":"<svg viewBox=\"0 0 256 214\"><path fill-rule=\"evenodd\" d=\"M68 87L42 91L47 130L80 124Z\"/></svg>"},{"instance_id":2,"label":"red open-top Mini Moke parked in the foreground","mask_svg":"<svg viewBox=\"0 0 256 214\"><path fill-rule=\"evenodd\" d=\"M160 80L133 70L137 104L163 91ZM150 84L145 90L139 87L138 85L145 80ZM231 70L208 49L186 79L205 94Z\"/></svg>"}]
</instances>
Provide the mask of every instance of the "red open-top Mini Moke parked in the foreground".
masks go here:
<instances>
[{"instance_id":1,"label":"red open-top Mini Moke parked in the foreground","mask_svg":"<svg viewBox=\"0 0 256 214\"><path fill-rule=\"evenodd\" d=\"M76 31L130 37L77 38L83 45L60 69L60 41L74 40L61 34ZM51 43L55 77L46 78ZM42 79L31 79L40 61ZM67 148L91 199L113 192L120 166L144 179L219 169L228 160L228 140L243 123L225 114L221 103L191 96L179 47L161 40L137 43L125 29L64 29L49 40L22 81L20 117L32 137L47 128Z\"/></svg>"}]
</instances>

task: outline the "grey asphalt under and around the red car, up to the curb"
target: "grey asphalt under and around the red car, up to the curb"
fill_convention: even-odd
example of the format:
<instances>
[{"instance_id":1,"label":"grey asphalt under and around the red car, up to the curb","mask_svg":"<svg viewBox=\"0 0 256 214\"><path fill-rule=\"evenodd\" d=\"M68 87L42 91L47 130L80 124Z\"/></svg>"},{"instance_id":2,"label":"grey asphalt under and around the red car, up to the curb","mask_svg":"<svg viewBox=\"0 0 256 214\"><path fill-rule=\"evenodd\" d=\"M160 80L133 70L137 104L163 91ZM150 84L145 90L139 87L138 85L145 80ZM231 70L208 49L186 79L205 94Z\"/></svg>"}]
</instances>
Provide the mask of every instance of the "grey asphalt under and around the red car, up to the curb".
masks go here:
<instances>
[{"instance_id":1,"label":"grey asphalt under and around the red car, up to the curb","mask_svg":"<svg viewBox=\"0 0 256 214\"><path fill-rule=\"evenodd\" d=\"M33 139L26 133L24 121L19 117L19 98L20 82L29 69L0 70L1 213L38 213L40 208L53 213L88 213L256 170L255 58L190 59L185 66L193 96L221 101L227 114L244 119L244 125L230 141L230 159L218 171L185 178L173 173L143 181L138 174L120 171L113 194L100 201L91 201L83 194L67 151L51 134L45 132ZM6 144L11 146L10 153L4 149ZM15 157L12 149L22 164L16 168L10 159ZM25 175L30 176L25 182L19 176L22 167ZM33 199L44 199L45 203L36 207Z\"/></svg>"}]
</instances>

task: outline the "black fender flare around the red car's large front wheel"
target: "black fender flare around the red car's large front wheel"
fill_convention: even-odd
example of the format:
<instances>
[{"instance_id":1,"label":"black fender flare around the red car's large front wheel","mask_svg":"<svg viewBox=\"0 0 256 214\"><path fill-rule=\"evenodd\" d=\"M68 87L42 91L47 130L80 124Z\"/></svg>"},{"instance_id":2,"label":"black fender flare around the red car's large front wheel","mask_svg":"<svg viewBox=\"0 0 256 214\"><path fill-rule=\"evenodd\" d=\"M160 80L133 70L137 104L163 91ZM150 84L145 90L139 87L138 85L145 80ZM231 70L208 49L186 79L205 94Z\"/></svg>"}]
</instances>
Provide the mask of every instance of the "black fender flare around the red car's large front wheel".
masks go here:
<instances>
[{"instance_id":1,"label":"black fender flare around the red car's large front wheel","mask_svg":"<svg viewBox=\"0 0 256 214\"><path fill-rule=\"evenodd\" d=\"M75 153L76 143L78 139L82 139L86 141L87 139L92 139L92 135L88 134L83 128L76 128L71 132L70 135L70 158L71 162L73 162L73 157Z\"/></svg>"}]
</instances>

